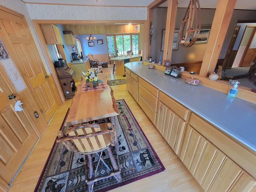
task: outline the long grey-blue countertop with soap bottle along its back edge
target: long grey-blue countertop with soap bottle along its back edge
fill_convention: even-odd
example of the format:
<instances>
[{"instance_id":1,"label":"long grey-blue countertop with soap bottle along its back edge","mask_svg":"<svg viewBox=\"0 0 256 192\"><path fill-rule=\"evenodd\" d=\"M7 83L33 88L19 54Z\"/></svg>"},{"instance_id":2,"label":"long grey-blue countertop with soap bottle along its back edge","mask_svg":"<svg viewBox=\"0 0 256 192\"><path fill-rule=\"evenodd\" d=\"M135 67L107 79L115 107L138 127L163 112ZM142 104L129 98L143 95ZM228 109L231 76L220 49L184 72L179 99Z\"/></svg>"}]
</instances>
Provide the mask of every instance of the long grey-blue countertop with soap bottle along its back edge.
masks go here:
<instances>
[{"instance_id":1,"label":"long grey-blue countertop with soap bottle along its back edge","mask_svg":"<svg viewBox=\"0 0 256 192\"><path fill-rule=\"evenodd\" d=\"M200 84L187 84L182 78L176 79L138 62L124 66L256 152L256 104L230 98Z\"/></svg>"}]
</instances>

